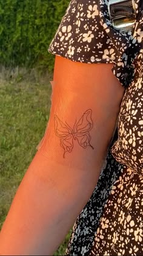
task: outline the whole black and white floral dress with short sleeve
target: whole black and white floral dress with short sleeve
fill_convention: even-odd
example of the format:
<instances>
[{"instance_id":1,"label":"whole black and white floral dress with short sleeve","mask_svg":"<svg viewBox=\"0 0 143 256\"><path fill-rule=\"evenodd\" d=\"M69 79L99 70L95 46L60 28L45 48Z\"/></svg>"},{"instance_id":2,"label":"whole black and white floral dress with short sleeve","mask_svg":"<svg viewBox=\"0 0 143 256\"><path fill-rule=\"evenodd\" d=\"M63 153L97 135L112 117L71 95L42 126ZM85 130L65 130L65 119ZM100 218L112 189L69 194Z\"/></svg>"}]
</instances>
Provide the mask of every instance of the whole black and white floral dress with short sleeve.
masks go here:
<instances>
[{"instance_id":1,"label":"whole black and white floral dress with short sleeve","mask_svg":"<svg viewBox=\"0 0 143 256\"><path fill-rule=\"evenodd\" d=\"M125 87L113 141L65 255L143 255L143 1L130 31L113 27L108 0L71 0L48 51L73 62L113 63Z\"/></svg>"}]
</instances>

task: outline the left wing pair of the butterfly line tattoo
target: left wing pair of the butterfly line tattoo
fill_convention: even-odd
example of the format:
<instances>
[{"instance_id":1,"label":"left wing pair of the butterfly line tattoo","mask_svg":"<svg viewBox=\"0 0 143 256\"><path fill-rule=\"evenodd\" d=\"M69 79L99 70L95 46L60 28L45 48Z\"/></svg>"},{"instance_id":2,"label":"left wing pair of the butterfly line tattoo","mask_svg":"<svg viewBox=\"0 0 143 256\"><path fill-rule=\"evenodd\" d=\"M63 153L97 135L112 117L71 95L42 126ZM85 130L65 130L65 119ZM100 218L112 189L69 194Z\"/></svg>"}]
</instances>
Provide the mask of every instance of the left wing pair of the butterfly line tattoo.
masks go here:
<instances>
[{"instance_id":1,"label":"left wing pair of the butterfly line tattoo","mask_svg":"<svg viewBox=\"0 0 143 256\"><path fill-rule=\"evenodd\" d=\"M60 145L64 149L64 155L66 152L71 152L73 149L73 135L72 129L64 124L57 115L54 116L55 121L55 133L60 138Z\"/></svg>"}]
</instances>

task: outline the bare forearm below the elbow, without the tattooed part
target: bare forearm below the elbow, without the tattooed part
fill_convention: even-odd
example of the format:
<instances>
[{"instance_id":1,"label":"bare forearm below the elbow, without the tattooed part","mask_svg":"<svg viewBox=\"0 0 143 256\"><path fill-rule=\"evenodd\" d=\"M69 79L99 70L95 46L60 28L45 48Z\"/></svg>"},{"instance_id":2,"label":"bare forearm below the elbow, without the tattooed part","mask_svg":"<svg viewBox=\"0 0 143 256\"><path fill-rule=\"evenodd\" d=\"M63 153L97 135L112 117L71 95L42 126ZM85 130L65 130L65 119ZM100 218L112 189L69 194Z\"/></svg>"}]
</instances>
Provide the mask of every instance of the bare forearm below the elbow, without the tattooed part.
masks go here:
<instances>
[{"instance_id":1,"label":"bare forearm below the elbow, without the tattooed part","mask_svg":"<svg viewBox=\"0 0 143 256\"><path fill-rule=\"evenodd\" d=\"M2 255L53 255L88 199L85 179L79 176L64 180L64 172L74 176L78 169L47 162L38 155L39 152L18 188L1 230ZM36 171L39 165L41 176ZM47 174L43 177L45 170ZM58 172L61 186L68 182L64 190L57 186Z\"/></svg>"}]
</instances>

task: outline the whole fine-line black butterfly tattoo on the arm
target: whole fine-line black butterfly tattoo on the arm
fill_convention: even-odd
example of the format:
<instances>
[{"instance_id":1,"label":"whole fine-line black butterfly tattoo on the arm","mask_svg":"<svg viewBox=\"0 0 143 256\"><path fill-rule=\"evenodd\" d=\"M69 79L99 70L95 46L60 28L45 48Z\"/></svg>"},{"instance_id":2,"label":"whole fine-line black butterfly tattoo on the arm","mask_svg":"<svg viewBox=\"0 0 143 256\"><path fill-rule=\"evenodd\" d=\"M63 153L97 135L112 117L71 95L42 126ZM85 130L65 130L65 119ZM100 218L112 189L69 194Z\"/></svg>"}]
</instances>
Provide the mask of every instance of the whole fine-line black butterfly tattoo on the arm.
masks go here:
<instances>
[{"instance_id":1,"label":"whole fine-line black butterfly tattoo on the arm","mask_svg":"<svg viewBox=\"0 0 143 256\"><path fill-rule=\"evenodd\" d=\"M64 158L66 152L70 153L72 151L73 140L77 140L79 145L84 149L87 148L87 146L90 146L92 149L94 149L90 144L91 136L89 133L93 127L91 113L91 109L85 111L82 117L79 119L78 123L75 121L73 129L68 126L66 121L63 123L57 115L54 115L55 133L56 136L60 138L60 145L64 149Z\"/></svg>"}]
</instances>

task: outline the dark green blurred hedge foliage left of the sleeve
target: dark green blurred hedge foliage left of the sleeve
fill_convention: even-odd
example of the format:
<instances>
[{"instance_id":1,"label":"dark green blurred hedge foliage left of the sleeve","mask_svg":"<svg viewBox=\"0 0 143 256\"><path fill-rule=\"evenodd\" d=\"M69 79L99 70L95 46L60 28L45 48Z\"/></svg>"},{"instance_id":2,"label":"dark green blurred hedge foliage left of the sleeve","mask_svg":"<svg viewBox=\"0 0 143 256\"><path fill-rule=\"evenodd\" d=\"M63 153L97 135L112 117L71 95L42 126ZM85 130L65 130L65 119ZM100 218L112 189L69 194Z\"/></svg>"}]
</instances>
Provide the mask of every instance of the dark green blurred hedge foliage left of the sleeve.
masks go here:
<instances>
[{"instance_id":1,"label":"dark green blurred hedge foliage left of the sleeve","mask_svg":"<svg viewBox=\"0 0 143 256\"><path fill-rule=\"evenodd\" d=\"M53 71L48 52L69 0L0 0L0 63Z\"/></svg>"}]
</instances>

